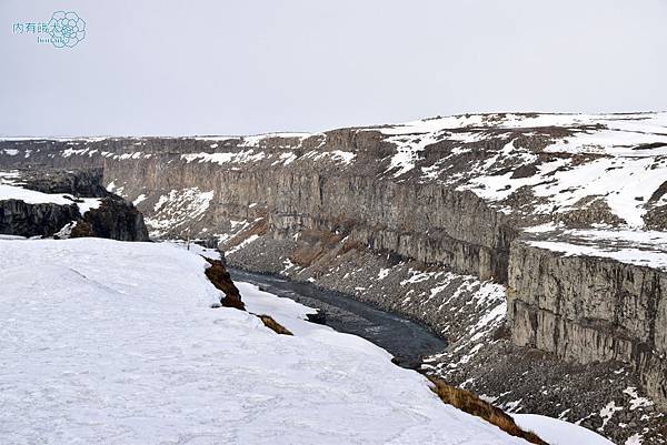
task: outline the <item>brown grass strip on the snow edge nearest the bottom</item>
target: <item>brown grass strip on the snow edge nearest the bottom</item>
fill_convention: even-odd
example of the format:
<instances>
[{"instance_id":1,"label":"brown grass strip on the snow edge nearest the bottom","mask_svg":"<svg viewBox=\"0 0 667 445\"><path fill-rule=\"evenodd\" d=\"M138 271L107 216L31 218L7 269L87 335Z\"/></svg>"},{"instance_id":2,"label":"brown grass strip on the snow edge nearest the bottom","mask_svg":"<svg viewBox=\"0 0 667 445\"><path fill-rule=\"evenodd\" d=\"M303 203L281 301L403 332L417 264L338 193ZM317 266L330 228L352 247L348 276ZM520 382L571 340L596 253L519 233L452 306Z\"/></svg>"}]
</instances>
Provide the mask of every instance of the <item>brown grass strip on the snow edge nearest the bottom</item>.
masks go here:
<instances>
[{"instance_id":1,"label":"brown grass strip on the snow edge nearest the bottom","mask_svg":"<svg viewBox=\"0 0 667 445\"><path fill-rule=\"evenodd\" d=\"M442 402L474 416L481 417L509 434L510 436L524 438L532 444L549 445L535 433L521 429L508 414L502 409L477 397L475 394L450 386L441 380L427 376L434 384L431 391Z\"/></svg>"}]
</instances>

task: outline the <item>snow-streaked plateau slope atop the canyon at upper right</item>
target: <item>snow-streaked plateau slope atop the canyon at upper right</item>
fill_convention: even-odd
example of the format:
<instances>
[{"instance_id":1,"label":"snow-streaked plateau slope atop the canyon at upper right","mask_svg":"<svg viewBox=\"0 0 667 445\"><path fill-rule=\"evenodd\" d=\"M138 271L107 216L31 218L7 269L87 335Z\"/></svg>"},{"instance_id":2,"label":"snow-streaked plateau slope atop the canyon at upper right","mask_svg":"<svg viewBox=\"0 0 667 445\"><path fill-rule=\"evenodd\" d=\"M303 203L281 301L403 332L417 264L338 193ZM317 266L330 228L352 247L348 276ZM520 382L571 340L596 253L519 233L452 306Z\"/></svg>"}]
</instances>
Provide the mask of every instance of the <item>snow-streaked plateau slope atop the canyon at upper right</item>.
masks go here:
<instances>
[{"instance_id":1,"label":"snow-streaked plateau slope atop the canyon at upper right","mask_svg":"<svg viewBox=\"0 0 667 445\"><path fill-rule=\"evenodd\" d=\"M635 229L644 227L648 210L665 204L664 200L651 201L667 179L665 112L465 114L364 129L369 130L381 132L396 145L388 171L397 178L414 170L429 145L445 140L460 143L447 156L422 166L421 179L470 190L505 213L519 210L505 200L522 189L529 190L535 201L527 214L567 213L595 199ZM517 134L546 138L548 143L529 149ZM504 140L501 149L485 148L486 159L467 158L472 152L480 155L479 148L468 144L495 138ZM461 161L456 161L459 158ZM456 162L468 169L448 170ZM517 175L518 166L535 170Z\"/></svg>"}]
</instances>

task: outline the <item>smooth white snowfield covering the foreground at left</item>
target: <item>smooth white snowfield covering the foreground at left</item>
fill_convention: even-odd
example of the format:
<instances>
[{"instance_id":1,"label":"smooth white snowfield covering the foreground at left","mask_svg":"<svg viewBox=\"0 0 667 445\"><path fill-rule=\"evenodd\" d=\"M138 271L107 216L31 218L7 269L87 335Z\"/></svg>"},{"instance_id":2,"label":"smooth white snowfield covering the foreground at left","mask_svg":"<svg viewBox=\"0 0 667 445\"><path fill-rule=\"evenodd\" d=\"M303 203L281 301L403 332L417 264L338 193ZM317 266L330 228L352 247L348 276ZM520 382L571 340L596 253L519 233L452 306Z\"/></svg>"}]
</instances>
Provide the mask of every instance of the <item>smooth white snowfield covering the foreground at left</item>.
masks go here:
<instances>
[{"instance_id":1,"label":"smooth white snowfield covering the foreground at left","mask_svg":"<svg viewBox=\"0 0 667 445\"><path fill-rule=\"evenodd\" d=\"M521 444L444 405L384 350L239 283L210 309L195 251L0 240L0 443Z\"/></svg>"}]
</instances>

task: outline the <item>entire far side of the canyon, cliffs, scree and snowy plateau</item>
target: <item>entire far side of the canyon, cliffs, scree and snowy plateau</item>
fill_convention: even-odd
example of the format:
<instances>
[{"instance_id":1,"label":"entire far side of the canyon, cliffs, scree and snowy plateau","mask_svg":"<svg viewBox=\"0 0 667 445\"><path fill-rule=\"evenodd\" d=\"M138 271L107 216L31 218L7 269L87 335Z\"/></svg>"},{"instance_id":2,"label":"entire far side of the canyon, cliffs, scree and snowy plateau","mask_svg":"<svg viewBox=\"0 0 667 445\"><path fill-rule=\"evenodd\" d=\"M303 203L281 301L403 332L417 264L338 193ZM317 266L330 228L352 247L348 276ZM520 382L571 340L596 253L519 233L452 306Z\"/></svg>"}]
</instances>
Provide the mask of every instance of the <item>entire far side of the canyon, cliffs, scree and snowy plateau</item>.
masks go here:
<instances>
[{"instance_id":1,"label":"entire far side of the canyon, cliffs, scree and snowy plateau","mask_svg":"<svg viewBox=\"0 0 667 445\"><path fill-rule=\"evenodd\" d=\"M153 236L427 323L451 344L431 372L510 411L667 434L665 113L0 142L37 165L101 169Z\"/></svg>"}]
</instances>

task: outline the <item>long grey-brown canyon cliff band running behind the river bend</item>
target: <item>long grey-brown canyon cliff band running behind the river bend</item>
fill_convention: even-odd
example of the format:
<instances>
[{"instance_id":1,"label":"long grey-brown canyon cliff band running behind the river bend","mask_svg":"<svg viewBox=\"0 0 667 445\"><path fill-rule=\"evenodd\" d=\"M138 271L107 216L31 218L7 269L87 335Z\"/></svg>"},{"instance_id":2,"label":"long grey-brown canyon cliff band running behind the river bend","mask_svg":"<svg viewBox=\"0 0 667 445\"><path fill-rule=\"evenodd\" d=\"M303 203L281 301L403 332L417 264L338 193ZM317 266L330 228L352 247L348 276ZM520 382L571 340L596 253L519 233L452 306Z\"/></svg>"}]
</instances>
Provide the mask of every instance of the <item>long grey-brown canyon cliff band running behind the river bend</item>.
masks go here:
<instances>
[{"instance_id":1,"label":"long grey-brown canyon cliff band running behind the river bend","mask_svg":"<svg viewBox=\"0 0 667 445\"><path fill-rule=\"evenodd\" d=\"M302 230L339 231L374 251L505 282L509 245L517 231L504 215L470 191L379 178L378 165L389 149L387 142L378 141L376 132L354 130L327 134L321 148L316 143L318 138L305 143L269 139L262 141L262 149L278 155L283 154L281 149L312 153L309 145L325 155L291 163L277 163L269 155L242 163L243 168L198 162L197 158L188 161L188 154L211 152L210 142L188 139L140 142L121 139L82 142L76 148L71 142L44 141L26 146L23 142L11 145L6 142L4 146L11 146L8 150L22 153L29 150L31 154L6 155L0 165L101 168L104 182L113 183L123 196L136 200L147 192L143 194L149 199L138 205L149 218L156 213L149 204L155 205L172 190L176 191L172 201L181 198L182 190L197 194L212 192L205 218L195 221L188 218L182 226L170 221L167 230L170 235L205 235L201 229L206 225L223 227L229 220L267 216L268 232L275 239L290 237ZM227 143L230 150L242 152L238 141ZM40 145L40 151L34 151ZM128 149L140 151L128 152ZM341 165L335 158L338 152L354 153L354 165ZM257 205L249 208L251 203Z\"/></svg>"}]
</instances>

